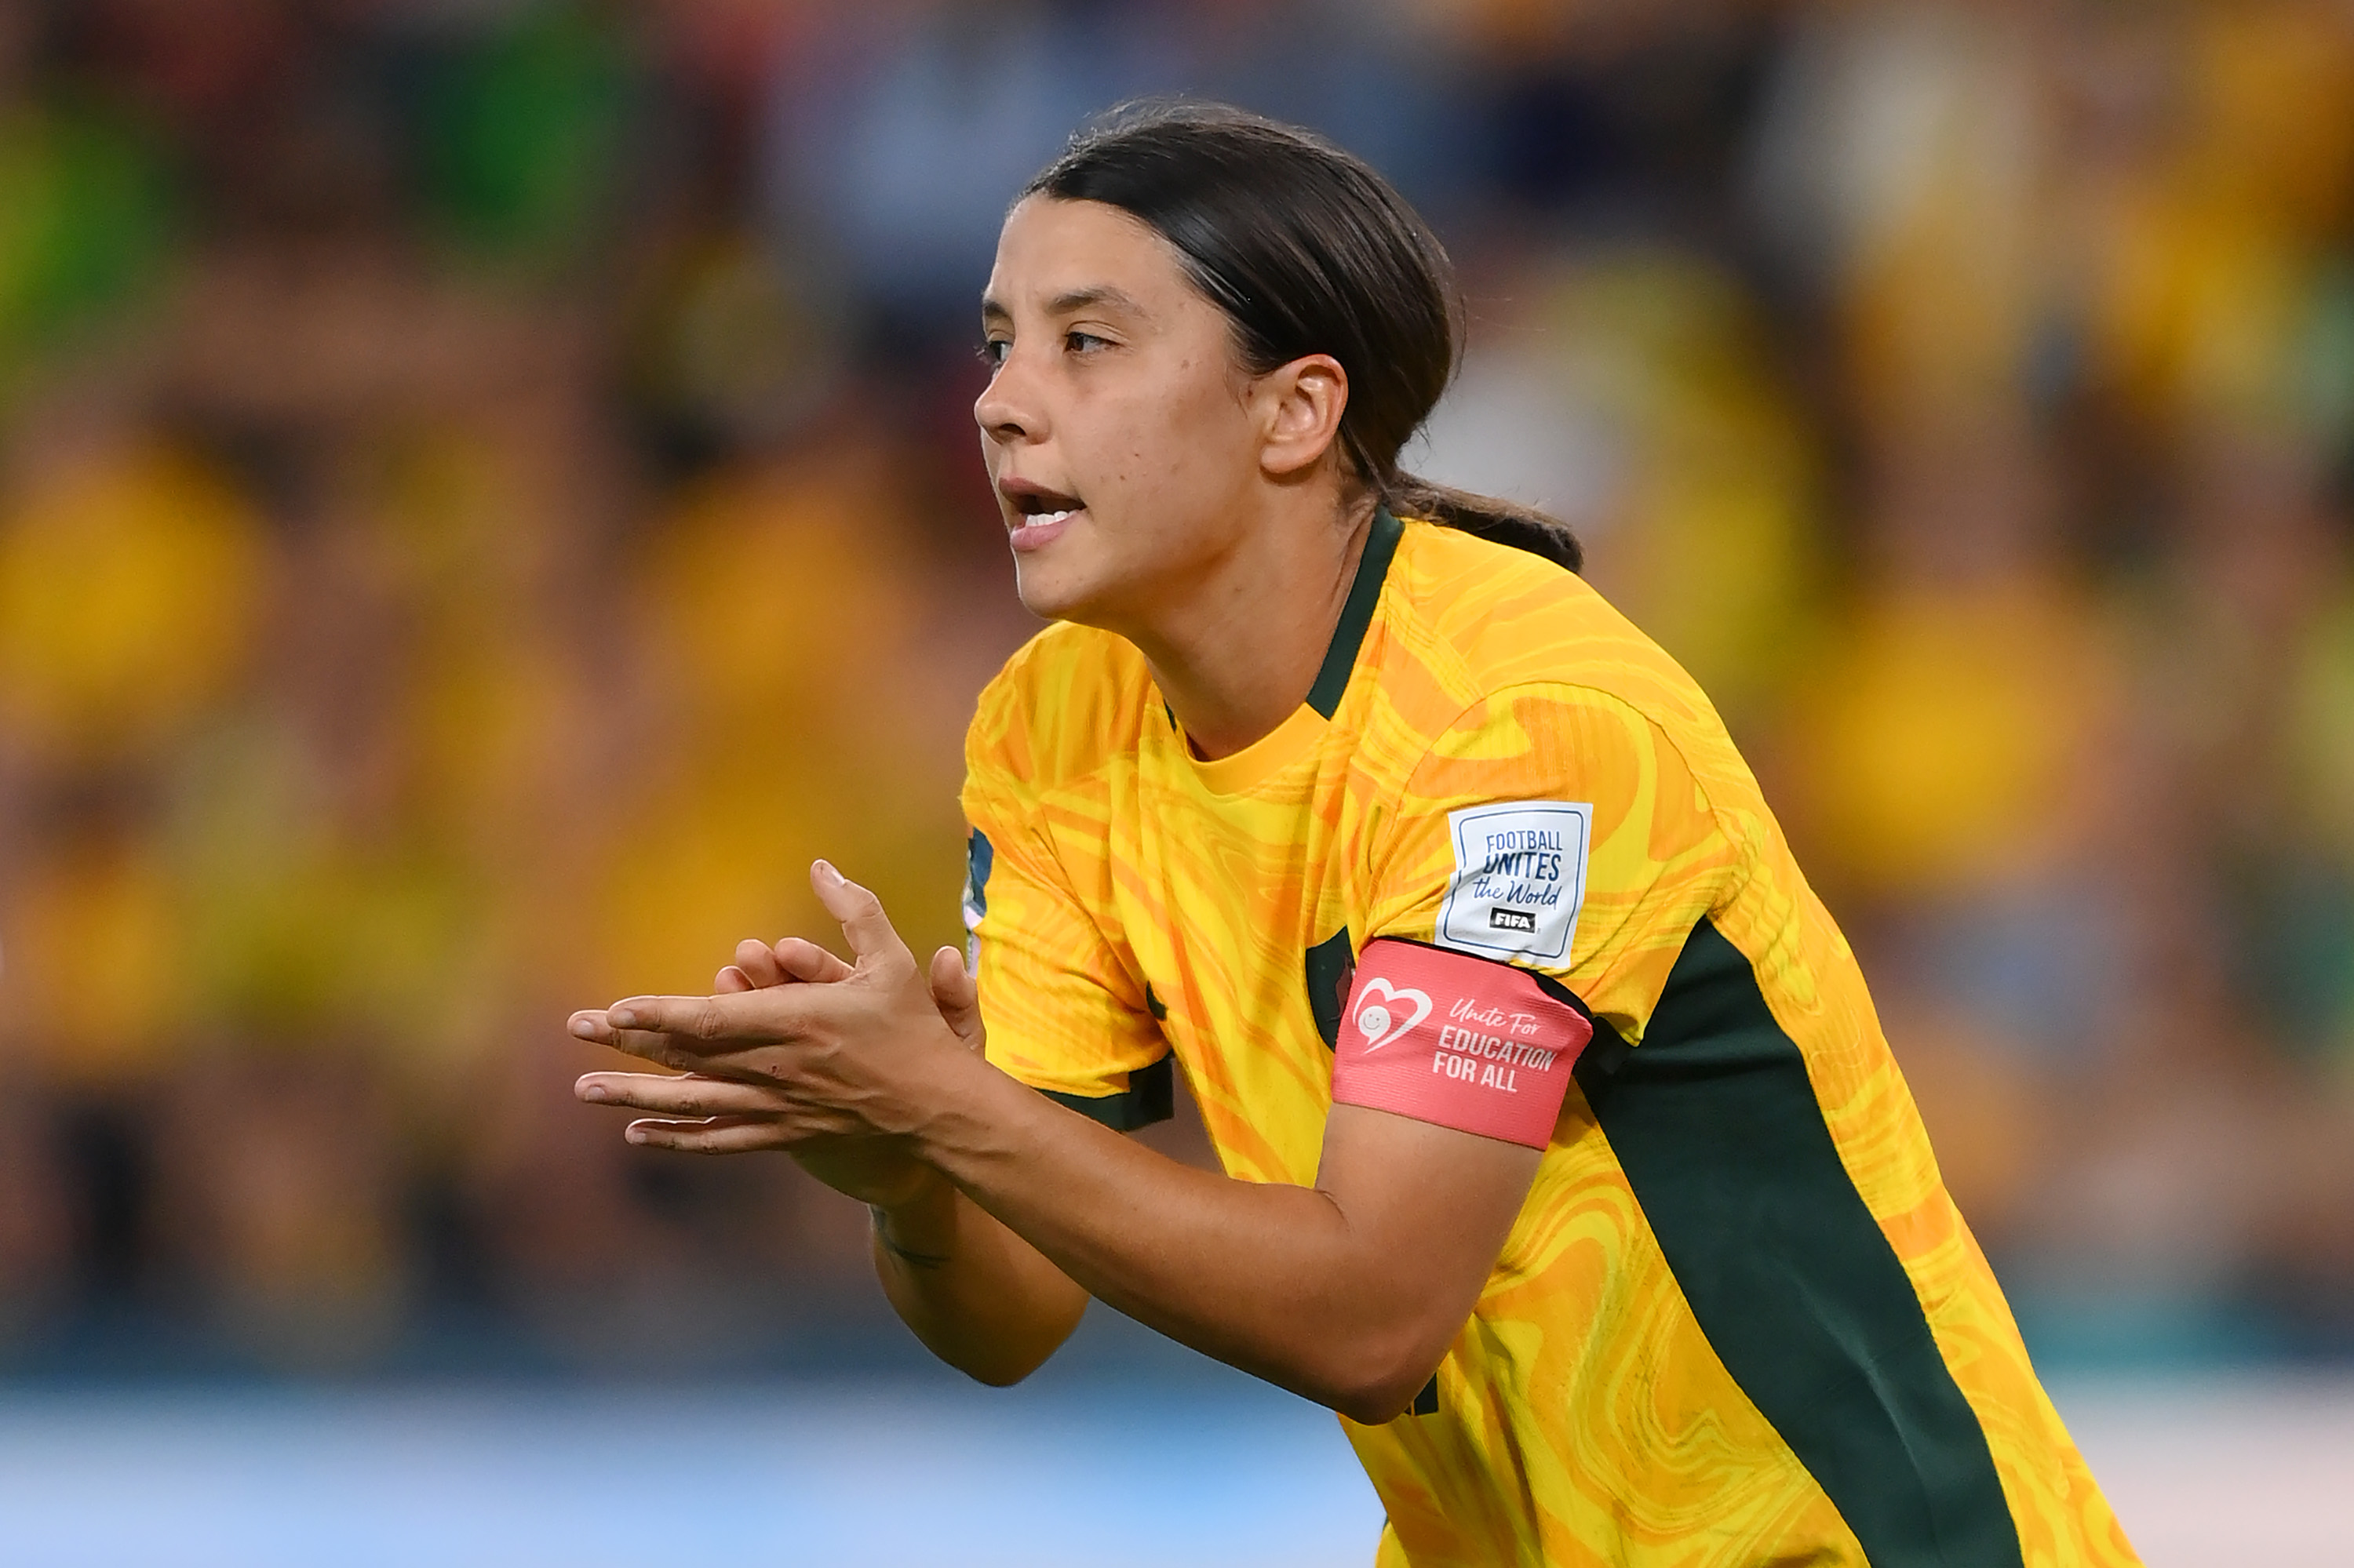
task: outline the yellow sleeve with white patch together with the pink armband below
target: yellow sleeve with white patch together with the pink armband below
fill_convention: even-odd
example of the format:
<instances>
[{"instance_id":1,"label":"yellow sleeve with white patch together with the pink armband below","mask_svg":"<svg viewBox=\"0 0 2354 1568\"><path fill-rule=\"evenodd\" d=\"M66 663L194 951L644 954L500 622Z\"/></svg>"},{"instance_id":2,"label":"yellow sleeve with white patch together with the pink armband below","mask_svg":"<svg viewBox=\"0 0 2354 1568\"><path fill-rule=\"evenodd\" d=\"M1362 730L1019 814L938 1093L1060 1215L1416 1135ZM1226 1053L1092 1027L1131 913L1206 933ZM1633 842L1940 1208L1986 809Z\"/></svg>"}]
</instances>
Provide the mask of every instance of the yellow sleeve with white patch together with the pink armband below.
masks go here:
<instances>
[{"instance_id":1,"label":"yellow sleeve with white patch together with the pink armband below","mask_svg":"<svg viewBox=\"0 0 2354 1568\"><path fill-rule=\"evenodd\" d=\"M1464 711L1372 857L1332 1102L1532 1149L1601 1029L1641 1041L1737 864L1667 732L1575 685Z\"/></svg>"}]
</instances>

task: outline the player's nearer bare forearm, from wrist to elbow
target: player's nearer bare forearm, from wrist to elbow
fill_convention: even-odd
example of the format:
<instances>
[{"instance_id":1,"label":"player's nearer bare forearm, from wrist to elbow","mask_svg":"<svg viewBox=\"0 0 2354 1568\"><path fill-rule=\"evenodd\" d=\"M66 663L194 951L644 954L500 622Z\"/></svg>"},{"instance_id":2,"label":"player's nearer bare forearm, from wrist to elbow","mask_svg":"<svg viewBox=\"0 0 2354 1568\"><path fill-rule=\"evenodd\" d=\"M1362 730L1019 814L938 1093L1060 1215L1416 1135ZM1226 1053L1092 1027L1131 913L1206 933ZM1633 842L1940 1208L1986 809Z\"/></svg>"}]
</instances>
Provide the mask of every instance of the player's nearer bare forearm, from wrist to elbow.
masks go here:
<instances>
[{"instance_id":1,"label":"player's nearer bare forearm, from wrist to elbow","mask_svg":"<svg viewBox=\"0 0 2354 1568\"><path fill-rule=\"evenodd\" d=\"M1358 1420L1396 1415L1471 1309L1401 1290L1325 1191L1179 1165L996 1071L925 1158L1088 1295Z\"/></svg>"}]
</instances>

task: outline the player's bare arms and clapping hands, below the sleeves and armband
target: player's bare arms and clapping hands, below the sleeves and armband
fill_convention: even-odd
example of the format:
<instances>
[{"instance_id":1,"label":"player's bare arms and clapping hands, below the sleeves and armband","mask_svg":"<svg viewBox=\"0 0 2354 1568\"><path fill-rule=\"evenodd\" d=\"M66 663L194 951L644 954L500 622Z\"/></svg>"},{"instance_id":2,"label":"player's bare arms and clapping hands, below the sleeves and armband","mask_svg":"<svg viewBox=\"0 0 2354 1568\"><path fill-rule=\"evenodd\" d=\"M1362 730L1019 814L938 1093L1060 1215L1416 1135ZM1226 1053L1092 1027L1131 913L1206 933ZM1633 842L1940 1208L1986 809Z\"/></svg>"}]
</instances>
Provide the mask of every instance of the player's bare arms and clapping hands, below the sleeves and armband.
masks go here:
<instances>
[{"instance_id":1,"label":"player's bare arms and clapping hands, below the sleeves and armband","mask_svg":"<svg viewBox=\"0 0 2354 1568\"><path fill-rule=\"evenodd\" d=\"M1337 1104L1314 1187L1179 1165L991 1067L873 895L814 883L859 951L847 979L574 1015L581 1038L685 1069L588 1074L579 1092L669 1118L631 1123L643 1144L826 1165L887 1140L946 1177L836 1184L892 1203L876 1245L892 1307L975 1377L1029 1373L1097 1295L1356 1420L1403 1410L1478 1302L1535 1147Z\"/></svg>"}]
</instances>

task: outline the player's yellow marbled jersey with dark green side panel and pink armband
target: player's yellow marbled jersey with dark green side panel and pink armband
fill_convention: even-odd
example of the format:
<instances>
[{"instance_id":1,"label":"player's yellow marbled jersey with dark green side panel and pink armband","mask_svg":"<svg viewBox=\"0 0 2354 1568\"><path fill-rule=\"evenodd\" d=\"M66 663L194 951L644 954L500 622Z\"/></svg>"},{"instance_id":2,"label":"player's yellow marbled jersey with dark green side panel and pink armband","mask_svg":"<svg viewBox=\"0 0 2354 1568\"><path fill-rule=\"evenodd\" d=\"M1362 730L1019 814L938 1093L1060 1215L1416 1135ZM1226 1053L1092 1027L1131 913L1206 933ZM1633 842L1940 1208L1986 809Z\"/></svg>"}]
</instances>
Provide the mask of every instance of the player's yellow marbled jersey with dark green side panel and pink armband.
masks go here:
<instances>
[{"instance_id":1,"label":"player's yellow marbled jersey with dark green side panel and pink armband","mask_svg":"<svg viewBox=\"0 0 2354 1568\"><path fill-rule=\"evenodd\" d=\"M2135 1561L1756 779L1582 579L1384 511L1257 744L1064 624L965 763L1008 1074L1135 1128L1175 1064L1245 1182L1335 1095L1544 1149L1434 1384L1342 1420L1379 1563Z\"/></svg>"}]
</instances>

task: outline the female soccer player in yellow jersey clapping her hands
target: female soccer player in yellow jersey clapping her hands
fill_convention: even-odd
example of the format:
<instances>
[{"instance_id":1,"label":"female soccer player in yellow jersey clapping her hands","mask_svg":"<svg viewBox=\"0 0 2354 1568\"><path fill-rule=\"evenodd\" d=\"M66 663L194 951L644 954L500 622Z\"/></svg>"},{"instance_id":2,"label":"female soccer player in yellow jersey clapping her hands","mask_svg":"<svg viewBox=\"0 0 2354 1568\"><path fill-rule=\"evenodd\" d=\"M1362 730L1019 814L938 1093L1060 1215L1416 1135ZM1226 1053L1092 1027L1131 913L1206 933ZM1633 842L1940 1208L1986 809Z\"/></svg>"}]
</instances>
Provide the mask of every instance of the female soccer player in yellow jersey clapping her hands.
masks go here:
<instances>
[{"instance_id":1,"label":"female soccer player in yellow jersey clapping her hands","mask_svg":"<svg viewBox=\"0 0 2354 1568\"><path fill-rule=\"evenodd\" d=\"M982 330L1057 622L967 742L986 1038L822 862L855 965L581 1012L690 1071L579 1095L869 1201L984 1382L1099 1297L1330 1406L1382 1563L2133 1561L1707 697L1558 525L1401 473L1457 344L1405 202L1233 111L1113 120ZM1172 1062L1224 1175L1121 1137Z\"/></svg>"}]
</instances>

